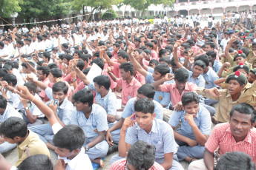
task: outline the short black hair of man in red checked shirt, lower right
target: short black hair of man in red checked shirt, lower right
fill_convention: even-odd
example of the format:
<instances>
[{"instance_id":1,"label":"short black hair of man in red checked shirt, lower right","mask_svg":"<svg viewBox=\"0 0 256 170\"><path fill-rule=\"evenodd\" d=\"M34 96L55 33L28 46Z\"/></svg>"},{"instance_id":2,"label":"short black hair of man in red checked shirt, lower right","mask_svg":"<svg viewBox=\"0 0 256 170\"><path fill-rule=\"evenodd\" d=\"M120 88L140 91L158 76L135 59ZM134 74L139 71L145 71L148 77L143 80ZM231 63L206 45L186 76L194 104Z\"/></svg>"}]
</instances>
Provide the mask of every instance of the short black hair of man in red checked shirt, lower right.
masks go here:
<instances>
[{"instance_id":1,"label":"short black hair of man in red checked shirt, lower right","mask_svg":"<svg viewBox=\"0 0 256 170\"><path fill-rule=\"evenodd\" d=\"M239 103L237 105L234 105L232 110L230 111L230 118L232 118L234 111L240 112L240 114L244 115L252 115L251 123L255 123L256 112L253 106L249 105L249 103Z\"/></svg>"}]
</instances>

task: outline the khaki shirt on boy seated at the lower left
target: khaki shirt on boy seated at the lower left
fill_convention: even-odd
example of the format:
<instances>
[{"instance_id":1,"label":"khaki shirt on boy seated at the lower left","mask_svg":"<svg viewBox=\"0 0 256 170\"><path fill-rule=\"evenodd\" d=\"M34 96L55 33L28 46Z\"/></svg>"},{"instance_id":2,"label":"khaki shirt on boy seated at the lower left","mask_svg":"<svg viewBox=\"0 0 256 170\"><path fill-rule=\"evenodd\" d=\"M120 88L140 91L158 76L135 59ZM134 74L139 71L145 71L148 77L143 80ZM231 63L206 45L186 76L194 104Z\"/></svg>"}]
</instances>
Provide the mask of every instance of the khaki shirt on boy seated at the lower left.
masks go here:
<instances>
[{"instance_id":1,"label":"khaki shirt on boy seated at the lower left","mask_svg":"<svg viewBox=\"0 0 256 170\"><path fill-rule=\"evenodd\" d=\"M27 138L17 146L19 160L15 163L15 166L19 166L27 157L36 154L46 154L50 159L50 152L45 143L34 132L29 130L28 133Z\"/></svg>"}]
</instances>

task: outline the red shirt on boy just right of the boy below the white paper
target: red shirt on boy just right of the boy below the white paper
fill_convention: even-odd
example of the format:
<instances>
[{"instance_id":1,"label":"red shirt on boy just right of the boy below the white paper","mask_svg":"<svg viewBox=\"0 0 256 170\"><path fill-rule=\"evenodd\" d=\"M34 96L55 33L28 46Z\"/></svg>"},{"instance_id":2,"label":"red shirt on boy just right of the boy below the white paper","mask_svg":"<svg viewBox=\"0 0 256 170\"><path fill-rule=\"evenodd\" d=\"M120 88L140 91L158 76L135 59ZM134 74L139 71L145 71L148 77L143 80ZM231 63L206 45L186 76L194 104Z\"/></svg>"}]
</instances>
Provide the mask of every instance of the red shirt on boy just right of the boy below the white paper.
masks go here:
<instances>
[{"instance_id":1,"label":"red shirt on boy just right of the boy below the white paper","mask_svg":"<svg viewBox=\"0 0 256 170\"><path fill-rule=\"evenodd\" d=\"M128 84L127 81L122 80L122 78L117 78L116 83L119 86L122 86L122 105L128 102L129 99L137 96L137 91L140 88L141 84L135 78L131 79L131 82Z\"/></svg>"}]
</instances>

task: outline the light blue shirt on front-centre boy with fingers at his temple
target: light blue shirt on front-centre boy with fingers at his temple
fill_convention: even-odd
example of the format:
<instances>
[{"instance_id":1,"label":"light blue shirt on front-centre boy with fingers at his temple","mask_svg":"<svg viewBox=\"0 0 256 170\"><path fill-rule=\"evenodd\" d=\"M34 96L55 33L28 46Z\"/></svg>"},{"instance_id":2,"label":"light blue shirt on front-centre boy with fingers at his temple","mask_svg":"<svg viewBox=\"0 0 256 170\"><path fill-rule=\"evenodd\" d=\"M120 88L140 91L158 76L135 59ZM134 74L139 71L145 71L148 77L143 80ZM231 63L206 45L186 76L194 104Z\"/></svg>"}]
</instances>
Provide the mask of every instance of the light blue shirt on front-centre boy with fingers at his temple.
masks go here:
<instances>
[{"instance_id":1,"label":"light blue shirt on front-centre boy with fingers at his temple","mask_svg":"<svg viewBox=\"0 0 256 170\"><path fill-rule=\"evenodd\" d=\"M174 132L171 126L163 120L154 119L151 132L140 129L137 122L127 129L125 142L133 145L137 140L142 140L156 147L156 158L160 159L167 153L177 153L179 146L174 140Z\"/></svg>"}]
</instances>

